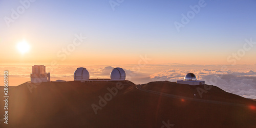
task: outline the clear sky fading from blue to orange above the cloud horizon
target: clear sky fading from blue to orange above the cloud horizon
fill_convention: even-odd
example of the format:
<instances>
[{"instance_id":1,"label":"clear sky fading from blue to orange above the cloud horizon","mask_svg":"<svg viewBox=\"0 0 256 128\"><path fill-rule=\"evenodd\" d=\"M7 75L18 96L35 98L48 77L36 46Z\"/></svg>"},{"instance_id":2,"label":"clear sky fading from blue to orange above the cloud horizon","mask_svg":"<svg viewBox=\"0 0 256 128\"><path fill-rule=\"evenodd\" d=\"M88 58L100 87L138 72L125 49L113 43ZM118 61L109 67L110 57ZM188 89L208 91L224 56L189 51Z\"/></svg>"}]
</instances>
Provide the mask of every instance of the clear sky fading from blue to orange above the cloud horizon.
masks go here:
<instances>
[{"instance_id":1,"label":"clear sky fading from blue to orange above the cloud horizon","mask_svg":"<svg viewBox=\"0 0 256 128\"><path fill-rule=\"evenodd\" d=\"M256 43L245 40L256 41L255 5L231 0L1 1L0 52L5 56L0 61L136 64L146 54L152 64L253 65ZM74 45L77 37L81 41ZM16 48L22 41L30 46L26 54Z\"/></svg>"}]
</instances>

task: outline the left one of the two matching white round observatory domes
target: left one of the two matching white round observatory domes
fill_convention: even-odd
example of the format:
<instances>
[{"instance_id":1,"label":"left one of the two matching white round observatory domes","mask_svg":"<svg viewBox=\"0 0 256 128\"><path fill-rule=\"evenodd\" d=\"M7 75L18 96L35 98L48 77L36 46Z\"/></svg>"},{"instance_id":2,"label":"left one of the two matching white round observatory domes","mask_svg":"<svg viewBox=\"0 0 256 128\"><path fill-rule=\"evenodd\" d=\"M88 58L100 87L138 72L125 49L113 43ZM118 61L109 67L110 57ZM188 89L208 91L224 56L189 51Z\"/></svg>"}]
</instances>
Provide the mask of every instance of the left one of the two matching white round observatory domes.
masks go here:
<instances>
[{"instance_id":1,"label":"left one of the two matching white round observatory domes","mask_svg":"<svg viewBox=\"0 0 256 128\"><path fill-rule=\"evenodd\" d=\"M79 67L74 72L75 81L89 80L89 78L90 78L90 74L86 68Z\"/></svg>"}]
</instances>

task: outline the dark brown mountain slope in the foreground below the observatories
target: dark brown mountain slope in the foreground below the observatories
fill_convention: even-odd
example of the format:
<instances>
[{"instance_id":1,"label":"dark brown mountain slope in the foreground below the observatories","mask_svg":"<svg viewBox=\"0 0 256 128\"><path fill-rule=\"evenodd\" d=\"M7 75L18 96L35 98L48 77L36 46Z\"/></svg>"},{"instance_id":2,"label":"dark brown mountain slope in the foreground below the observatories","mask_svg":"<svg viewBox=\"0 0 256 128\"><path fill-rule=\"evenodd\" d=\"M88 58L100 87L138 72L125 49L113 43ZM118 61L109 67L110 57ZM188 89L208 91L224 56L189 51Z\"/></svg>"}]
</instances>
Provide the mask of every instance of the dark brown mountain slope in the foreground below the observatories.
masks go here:
<instances>
[{"instance_id":1,"label":"dark brown mountain slope in the foreground below the observatories","mask_svg":"<svg viewBox=\"0 0 256 128\"><path fill-rule=\"evenodd\" d=\"M255 101L216 86L208 87L207 93L200 97L197 88L205 89L204 85L170 82L24 83L10 89L9 124L1 122L0 126L162 127L167 123L169 127L256 126ZM3 96L3 92L0 94ZM4 106L3 101L0 106ZM2 110L0 114L4 115Z\"/></svg>"}]
</instances>

